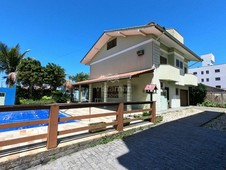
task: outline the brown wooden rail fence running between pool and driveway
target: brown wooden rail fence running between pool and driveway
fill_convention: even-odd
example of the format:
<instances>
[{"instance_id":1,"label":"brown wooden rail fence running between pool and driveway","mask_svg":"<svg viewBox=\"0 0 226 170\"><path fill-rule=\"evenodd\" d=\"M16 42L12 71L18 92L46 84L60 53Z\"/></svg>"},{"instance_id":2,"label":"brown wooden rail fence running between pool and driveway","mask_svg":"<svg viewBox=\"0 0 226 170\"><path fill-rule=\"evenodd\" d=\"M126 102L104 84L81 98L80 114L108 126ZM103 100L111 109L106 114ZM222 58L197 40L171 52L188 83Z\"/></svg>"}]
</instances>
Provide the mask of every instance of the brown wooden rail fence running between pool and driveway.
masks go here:
<instances>
[{"instance_id":1,"label":"brown wooden rail fence running between pool and driveway","mask_svg":"<svg viewBox=\"0 0 226 170\"><path fill-rule=\"evenodd\" d=\"M124 106L127 105L140 105L140 104L148 104L150 105L149 109L139 109L139 110L130 110L126 111ZM90 107L105 107L105 106L116 106L117 110L115 112L110 113L100 113L100 114L92 114L92 115L81 115L81 116L72 116L65 118L58 118L60 109L74 109L74 108L90 108ZM19 105L19 106L0 106L0 114L4 111L18 111L18 110L40 110L40 109L49 109L49 119L45 120L35 120L28 122L16 122L16 123L8 123L8 124L0 124L0 130L5 128L14 128L21 126L30 126L37 124L48 124L48 131L45 134L33 135L28 137L21 137L16 139L4 140L0 141L0 147L19 144L23 142L34 141L38 139L46 139L47 144L46 147L48 149L57 147L58 139L57 137L60 135L70 134L74 132L80 132L84 130L92 130L96 128L101 128L103 125L94 125L94 126L84 126L79 128L72 128L67 130L58 130L59 122L65 122L69 120L81 120L81 119L90 119L90 118L100 118L106 116L116 116L116 121L106 123L105 126L115 125L117 131L123 131L123 123L132 122L140 119L146 118L135 118L130 120L123 120L124 114L136 113L136 112L150 112L150 121L155 122L156 118L156 103L150 101L144 102L125 102L125 103L81 103L81 104L53 104L53 105ZM4 133L4 132L1 132Z\"/></svg>"}]
</instances>

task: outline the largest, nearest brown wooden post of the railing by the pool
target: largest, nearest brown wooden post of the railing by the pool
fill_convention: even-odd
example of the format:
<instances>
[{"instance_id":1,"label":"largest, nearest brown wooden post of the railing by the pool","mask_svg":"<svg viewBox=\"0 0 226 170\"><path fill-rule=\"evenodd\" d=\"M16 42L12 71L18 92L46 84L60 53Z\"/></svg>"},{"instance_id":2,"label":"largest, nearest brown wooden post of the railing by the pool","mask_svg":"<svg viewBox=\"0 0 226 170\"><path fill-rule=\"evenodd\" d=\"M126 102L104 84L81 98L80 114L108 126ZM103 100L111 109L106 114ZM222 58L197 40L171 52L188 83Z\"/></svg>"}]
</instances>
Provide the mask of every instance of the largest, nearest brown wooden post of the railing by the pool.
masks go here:
<instances>
[{"instance_id":1,"label":"largest, nearest brown wooden post of the railing by the pool","mask_svg":"<svg viewBox=\"0 0 226 170\"><path fill-rule=\"evenodd\" d=\"M58 115L59 115L59 105L56 104L51 105L49 111L47 149L57 147Z\"/></svg>"}]
</instances>

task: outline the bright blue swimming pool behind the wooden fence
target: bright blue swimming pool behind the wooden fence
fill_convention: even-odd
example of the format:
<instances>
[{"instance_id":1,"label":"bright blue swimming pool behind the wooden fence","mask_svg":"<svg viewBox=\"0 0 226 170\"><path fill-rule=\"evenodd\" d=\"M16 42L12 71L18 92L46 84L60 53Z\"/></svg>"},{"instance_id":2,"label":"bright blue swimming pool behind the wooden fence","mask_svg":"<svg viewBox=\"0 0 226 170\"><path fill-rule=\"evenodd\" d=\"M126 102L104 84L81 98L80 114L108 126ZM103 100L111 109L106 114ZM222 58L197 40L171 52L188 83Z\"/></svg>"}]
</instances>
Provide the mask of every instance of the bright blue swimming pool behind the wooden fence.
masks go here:
<instances>
[{"instance_id":1,"label":"bright blue swimming pool behind the wooden fence","mask_svg":"<svg viewBox=\"0 0 226 170\"><path fill-rule=\"evenodd\" d=\"M59 118L63 118L63 117L70 117L70 115L60 111ZM49 118L49 110L48 109L0 112L0 124L15 123L15 122L27 122L27 121L34 121L34 120L44 120L44 119L48 119L48 118ZM59 124L76 122L76 121L77 120L70 120L70 121L66 121L66 122L59 122ZM38 124L38 125L0 129L0 132L28 129L28 128L41 127L41 126L47 126L47 124Z\"/></svg>"}]
</instances>

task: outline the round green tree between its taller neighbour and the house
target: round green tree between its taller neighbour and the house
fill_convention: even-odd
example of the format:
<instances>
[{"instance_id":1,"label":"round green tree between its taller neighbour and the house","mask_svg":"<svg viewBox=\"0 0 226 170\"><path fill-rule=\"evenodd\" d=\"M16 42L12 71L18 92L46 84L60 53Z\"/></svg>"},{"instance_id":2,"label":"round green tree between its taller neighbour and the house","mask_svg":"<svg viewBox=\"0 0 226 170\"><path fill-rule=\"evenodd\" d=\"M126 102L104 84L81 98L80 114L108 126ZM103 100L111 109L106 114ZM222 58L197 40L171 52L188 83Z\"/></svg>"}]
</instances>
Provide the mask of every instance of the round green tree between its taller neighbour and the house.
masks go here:
<instances>
[{"instance_id":1,"label":"round green tree between its taller neighbour and the house","mask_svg":"<svg viewBox=\"0 0 226 170\"><path fill-rule=\"evenodd\" d=\"M44 68L44 83L50 85L54 90L65 82L65 71L59 65L48 63Z\"/></svg>"}]
</instances>

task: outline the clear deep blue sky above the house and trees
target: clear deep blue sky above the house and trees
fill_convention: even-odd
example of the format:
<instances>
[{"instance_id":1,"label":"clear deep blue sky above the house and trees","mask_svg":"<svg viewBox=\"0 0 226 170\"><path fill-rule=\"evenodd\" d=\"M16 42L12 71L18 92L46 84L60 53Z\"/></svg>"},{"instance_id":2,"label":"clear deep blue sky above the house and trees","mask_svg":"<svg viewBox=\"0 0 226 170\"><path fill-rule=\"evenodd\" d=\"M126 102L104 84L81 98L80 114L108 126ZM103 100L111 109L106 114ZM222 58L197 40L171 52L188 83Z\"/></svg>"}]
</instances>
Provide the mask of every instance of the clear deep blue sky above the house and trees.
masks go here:
<instances>
[{"instance_id":1,"label":"clear deep blue sky above the house and trees","mask_svg":"<svg viewBox=\"0 0 226 170\"><path fill-rule=\"evenodd\" d=\"M0 0L0 41L31 49L43 65L68 75L89 72L80 60L104 30L151 21L176 28L196 54L213 53L226 63L225 0ZM198 66L198 65L196 65Z\"/></svg>"}]
</instances>

